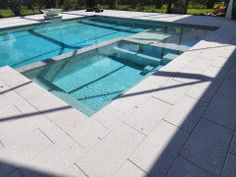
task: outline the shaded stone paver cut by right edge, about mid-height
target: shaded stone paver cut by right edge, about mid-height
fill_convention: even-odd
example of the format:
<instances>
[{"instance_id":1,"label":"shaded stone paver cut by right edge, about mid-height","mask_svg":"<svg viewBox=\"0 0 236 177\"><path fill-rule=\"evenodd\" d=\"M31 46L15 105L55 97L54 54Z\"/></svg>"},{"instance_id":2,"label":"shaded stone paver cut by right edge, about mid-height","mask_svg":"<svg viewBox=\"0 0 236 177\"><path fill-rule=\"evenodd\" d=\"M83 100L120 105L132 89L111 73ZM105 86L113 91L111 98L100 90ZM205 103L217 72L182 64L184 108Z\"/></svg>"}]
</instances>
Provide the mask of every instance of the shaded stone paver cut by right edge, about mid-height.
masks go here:
<instances>
[{"instance_id":1,"label":"shaded stone paver cut by right edge, about mid-height","mask_svg":"<svg viewBox=\"0 0 236 177\"><path fill-rule=\"evenodd\" d=\"M225 127L234 129L236 126L236 99L216 95L203 116Z\"/></svg>"}]
</instances>

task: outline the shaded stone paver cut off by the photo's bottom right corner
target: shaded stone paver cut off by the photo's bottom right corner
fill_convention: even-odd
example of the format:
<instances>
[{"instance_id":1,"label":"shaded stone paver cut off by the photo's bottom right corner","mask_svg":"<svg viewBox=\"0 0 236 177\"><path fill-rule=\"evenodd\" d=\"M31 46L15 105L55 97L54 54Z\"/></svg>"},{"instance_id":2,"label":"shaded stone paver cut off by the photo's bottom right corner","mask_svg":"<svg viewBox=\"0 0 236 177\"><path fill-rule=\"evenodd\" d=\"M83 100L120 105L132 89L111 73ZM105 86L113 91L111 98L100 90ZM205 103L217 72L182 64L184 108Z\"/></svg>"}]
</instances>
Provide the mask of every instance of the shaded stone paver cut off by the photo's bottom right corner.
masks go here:
<instances>
[{"instance_id":1,"label":"shaded stone paver cut off by the photo's bottom right corner","mask_svg":"<svg viewBox=\"0 0 236 177\"><path fill-rule=\"evenodd\" d=\"M236 156L228 154L221 177L236 176Z\"/></svg>"}]
</instances>

